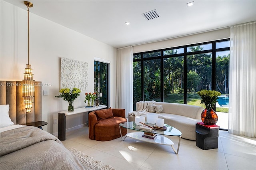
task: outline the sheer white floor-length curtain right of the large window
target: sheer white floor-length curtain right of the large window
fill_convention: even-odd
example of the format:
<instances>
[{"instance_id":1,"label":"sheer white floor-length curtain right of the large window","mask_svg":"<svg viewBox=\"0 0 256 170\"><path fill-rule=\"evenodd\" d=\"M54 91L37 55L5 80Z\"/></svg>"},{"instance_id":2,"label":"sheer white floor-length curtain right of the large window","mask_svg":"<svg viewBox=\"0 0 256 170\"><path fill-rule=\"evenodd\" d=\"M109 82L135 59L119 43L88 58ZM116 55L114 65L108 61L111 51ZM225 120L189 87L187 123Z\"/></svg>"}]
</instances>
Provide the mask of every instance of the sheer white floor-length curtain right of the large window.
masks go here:
<instances>
[{"instance_id":1,"label":"sheer white floor-length curtain right of the large window","mask_svg":"<svg viewBox=\"0 0 256 170\"><path fill-rule=\"evenodd\" d=\"M228 132L256 137L256 22L230 30Z\"/></svg>"}]
</instances>

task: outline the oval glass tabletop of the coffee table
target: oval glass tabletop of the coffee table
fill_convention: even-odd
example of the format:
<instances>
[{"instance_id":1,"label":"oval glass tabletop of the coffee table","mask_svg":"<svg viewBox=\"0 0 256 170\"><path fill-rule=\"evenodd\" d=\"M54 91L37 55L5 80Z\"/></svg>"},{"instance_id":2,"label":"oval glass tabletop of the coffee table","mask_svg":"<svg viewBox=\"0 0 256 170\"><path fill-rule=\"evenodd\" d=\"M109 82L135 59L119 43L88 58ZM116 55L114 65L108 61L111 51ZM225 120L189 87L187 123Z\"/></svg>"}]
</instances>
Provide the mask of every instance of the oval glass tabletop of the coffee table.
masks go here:
<instances>
[{"instance_id":1,"label":"oval glass tabletop of the coffee table","mask_svg":"<svg viewBox=\"0 0 256 170\"><path fill-rule=\"evenodd\" d=\"M149 124L149 123L145 123L145 124L149 125L150 127L153 127L155 125L155 124ZM138 130L141 132L149 132L148 130L141 129L140 125L136 125L135 122L125 122L125 123L120 123L119 125L123 128ZM168 136L181 136L182 135L180 130L178 130L170 125L167 125L167 124L164 124L164 126L167 128L165 131L152 129L150 132L155 133L155 134L168 135Z\"/></svg>"}]
</instances>

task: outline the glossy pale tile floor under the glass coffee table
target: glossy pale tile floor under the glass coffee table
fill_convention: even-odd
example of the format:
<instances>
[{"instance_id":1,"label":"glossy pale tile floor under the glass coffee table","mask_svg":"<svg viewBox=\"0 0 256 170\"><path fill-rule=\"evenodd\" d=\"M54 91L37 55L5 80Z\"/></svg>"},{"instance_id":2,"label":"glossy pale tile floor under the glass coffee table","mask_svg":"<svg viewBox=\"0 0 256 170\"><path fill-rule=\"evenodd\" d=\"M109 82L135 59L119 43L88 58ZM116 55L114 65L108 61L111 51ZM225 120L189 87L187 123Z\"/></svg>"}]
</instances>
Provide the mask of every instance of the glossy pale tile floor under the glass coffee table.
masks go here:
<instances>
[{"instance_id":1,"label":"glossy pale tile floor under the glass coffee table","mask_svg":"<svg viewBox=\"0 0 256 170\"><path fill-rule=\"evenodd\" d=\"M133 132L129 130L128 132ZM218 148L202 150L192 140L181 139L175 154L170 146L127 137L101 142L88 138L88 127L66 134L66 148L76 148L116 170L256 170L256 138L220 130ZM177 148L178 137L169 137Z\"/></svg>"}]
</instances>

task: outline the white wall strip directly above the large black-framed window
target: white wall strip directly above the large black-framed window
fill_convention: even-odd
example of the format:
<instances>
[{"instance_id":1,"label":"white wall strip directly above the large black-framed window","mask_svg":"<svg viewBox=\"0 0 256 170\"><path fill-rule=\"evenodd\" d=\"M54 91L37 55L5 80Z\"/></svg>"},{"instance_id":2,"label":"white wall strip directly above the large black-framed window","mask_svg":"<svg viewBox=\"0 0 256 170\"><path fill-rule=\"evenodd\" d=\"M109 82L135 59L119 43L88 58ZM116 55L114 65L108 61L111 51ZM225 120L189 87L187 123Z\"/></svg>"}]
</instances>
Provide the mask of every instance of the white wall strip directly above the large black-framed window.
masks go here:
<instances>
[{"instance_id":1,"label":"white wall strip directly above the large black-framed window","mask_svg":"<svg viewBox=\"0 0 256 170\"><path fill-rule=\"evenodd\" d=\"M169 47L178 47L181 45L189 45L193 43L209 42L209 41L221 40L225 38L230 38L230 28L198 33L198 34L193 34L189 36L182 36L182 37L172 38L169 40L163 40L158 42L135 45L133 46L133 53L152 51L156 49L164 49Z\"/></svg>"}]
</instances>

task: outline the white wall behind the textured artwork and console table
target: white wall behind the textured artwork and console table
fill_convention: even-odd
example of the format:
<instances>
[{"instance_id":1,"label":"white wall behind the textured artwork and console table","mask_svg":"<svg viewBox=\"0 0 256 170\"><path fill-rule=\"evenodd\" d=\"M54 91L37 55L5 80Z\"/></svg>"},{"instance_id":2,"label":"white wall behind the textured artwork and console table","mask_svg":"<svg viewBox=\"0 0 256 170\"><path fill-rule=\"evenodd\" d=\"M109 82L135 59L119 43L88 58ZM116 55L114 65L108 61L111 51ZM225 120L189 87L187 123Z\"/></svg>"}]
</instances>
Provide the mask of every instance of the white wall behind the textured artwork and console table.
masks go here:
<instances>
[{"instance_id":1,"label":"white wall behind the textured artwork and console table","mask_svg":"<svg viewBox=\"0 0 256 170\"><path fill-rule=\"evenodd\" d=\"M23 79L28 63L27 11L0 1L1 6L1 45L0 79ZM54 96L60 90L60 57L71 58L88 63L88 91L82 91L74 101L74 107L84 107L84 93L94 91L94 57L110 61L110 107L115 108L116 96L116 48L84 36L74 30L46 20L32 13L30 9L30 64L35 81L50 83L42 90L49 95L42 97L43 121L48 122L44 130L57 135L58 112L67 110L68 102ZM87 114L68 116L66 128L79 127L86 123Z\"/></svg>"}]
</instances>

